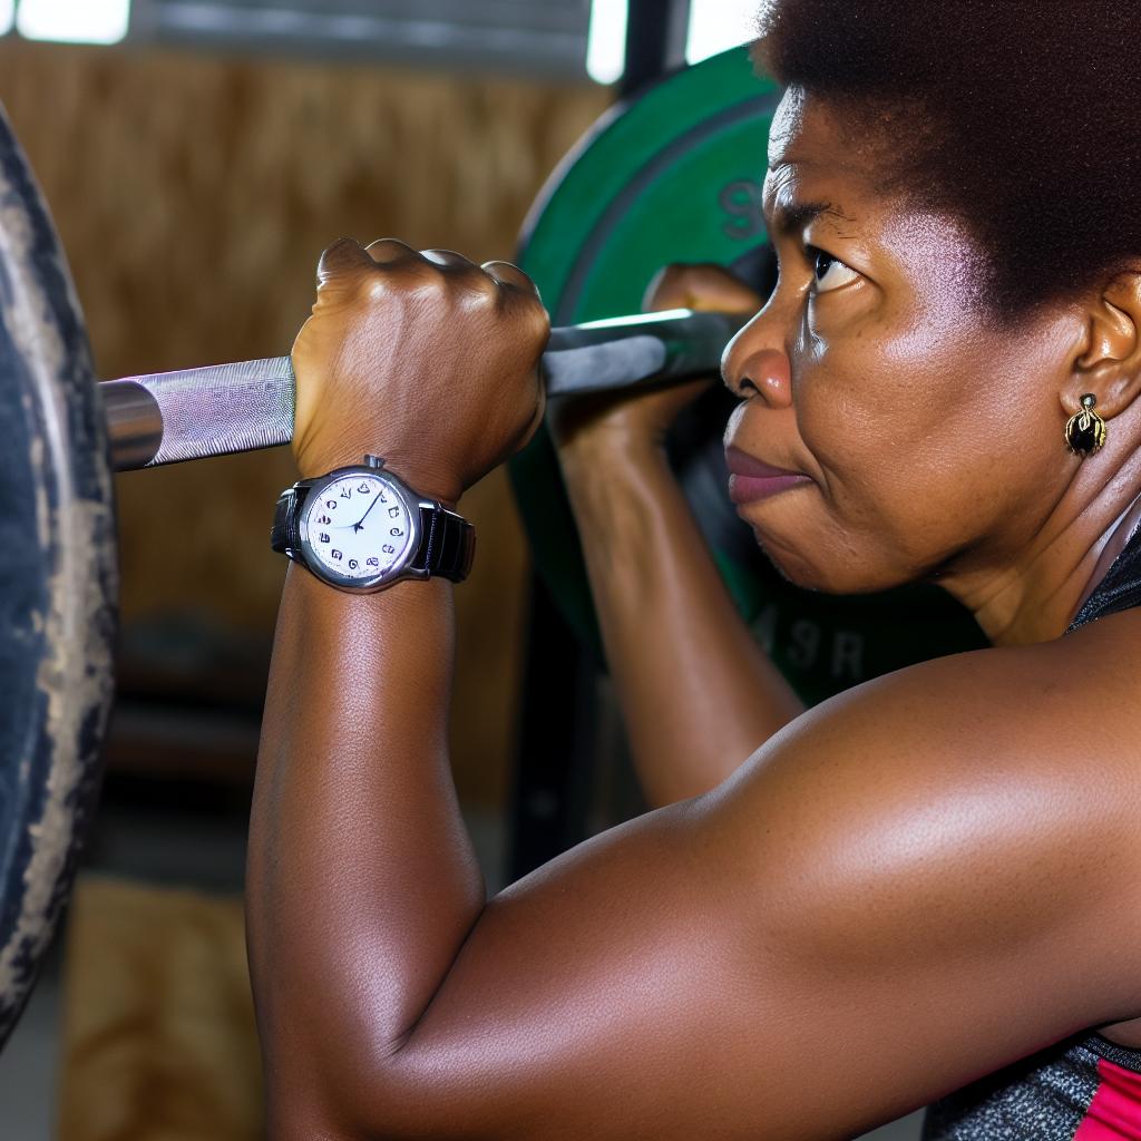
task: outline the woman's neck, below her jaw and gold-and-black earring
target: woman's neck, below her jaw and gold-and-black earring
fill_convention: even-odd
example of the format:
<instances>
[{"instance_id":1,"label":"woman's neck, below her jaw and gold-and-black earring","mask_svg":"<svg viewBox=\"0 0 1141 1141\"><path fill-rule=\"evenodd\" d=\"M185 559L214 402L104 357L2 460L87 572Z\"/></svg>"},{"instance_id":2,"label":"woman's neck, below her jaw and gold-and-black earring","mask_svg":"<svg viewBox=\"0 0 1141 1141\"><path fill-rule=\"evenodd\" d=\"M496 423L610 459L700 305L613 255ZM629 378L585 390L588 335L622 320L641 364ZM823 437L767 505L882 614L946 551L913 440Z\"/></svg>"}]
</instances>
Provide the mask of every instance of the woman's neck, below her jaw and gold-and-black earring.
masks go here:
<instances>
[{"instance_id":1,"label":"woman's neck, below her jaw and gold-and-black earring","mask_svg":"<svg viewBox=\"0 0 1141 1141\"><path fill-rule=\"evenodd\" d=\"M1054 509L1013 558L950 574L944 585L968 606L996 646L1063 634L1141 525L1141 453L1083 462Z\"/></svg>"}]
</instances>

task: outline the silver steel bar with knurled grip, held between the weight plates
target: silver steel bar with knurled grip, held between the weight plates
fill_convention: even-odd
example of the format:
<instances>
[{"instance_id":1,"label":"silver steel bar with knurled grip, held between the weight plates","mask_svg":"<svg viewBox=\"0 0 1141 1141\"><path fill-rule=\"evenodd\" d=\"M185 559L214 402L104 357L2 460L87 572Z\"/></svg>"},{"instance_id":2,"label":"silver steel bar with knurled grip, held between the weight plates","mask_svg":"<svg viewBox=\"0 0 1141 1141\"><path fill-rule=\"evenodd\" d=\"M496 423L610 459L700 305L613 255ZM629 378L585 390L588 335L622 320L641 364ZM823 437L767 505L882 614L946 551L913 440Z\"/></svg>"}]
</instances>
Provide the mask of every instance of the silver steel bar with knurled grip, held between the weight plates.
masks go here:
<instances>
[{"instance_id":1,"label":"silver steel bar with knurled grip, held between the weight plates","mask_svg":"<svg viewBox=\"0 0 1141 1141\"><path fill-rule=\"evenodd\" d=\"M715 372L745 317L675 309L551 332L550 396ZM296 379L289 357L129 377L99 385L116 471L288 444Z\"/></svg>"}]
</instances>

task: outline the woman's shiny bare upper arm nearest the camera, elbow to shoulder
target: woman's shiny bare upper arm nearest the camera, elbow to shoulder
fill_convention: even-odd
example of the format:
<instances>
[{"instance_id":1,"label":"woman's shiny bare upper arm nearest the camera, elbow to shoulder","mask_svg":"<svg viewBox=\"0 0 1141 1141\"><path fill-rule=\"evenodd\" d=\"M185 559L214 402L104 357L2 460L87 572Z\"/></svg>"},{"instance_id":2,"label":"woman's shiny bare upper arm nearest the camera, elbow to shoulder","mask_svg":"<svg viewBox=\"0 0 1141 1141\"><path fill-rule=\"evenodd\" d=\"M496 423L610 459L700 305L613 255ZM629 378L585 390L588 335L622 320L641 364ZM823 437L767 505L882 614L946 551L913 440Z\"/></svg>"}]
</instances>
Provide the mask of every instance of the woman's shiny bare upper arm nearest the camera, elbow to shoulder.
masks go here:
<instances>
[{"instance_id":1,"label":"woman's shiny bare upper arm nearest the camera, elbow to shoulder","mask_svg":"<svg viewBox=\"0 0 1141 1141\"><path fill-rule=\"evenodd\" d=\"M1135 783L1050 649L863 687L502 893L377 1084L386 1135L849 1136L1141 1012L1087 938L1141 912Z\"/></svg>"}]
</instances>

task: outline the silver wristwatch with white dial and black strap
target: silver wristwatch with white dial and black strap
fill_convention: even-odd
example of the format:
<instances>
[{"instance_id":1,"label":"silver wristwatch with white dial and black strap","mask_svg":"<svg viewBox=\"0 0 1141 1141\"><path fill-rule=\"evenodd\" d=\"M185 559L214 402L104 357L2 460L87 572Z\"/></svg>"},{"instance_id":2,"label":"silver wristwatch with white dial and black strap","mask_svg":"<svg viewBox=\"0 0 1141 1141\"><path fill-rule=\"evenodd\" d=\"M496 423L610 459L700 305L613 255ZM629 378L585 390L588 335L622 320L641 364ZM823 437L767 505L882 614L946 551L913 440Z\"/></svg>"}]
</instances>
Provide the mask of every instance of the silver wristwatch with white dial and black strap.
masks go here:
<instances>
[{"instance_id":1,"label":"silver wristwatch with white dial and black strap","mask_svg":"<svg viewBox=\"0 0 1141 1141\"><path fill-rule=\"evenodd\" d=\"M364 594L403 578L463 582L476 528L366 455L282 492L270 545L331 586Z\"/></svg>"}]
</instances>

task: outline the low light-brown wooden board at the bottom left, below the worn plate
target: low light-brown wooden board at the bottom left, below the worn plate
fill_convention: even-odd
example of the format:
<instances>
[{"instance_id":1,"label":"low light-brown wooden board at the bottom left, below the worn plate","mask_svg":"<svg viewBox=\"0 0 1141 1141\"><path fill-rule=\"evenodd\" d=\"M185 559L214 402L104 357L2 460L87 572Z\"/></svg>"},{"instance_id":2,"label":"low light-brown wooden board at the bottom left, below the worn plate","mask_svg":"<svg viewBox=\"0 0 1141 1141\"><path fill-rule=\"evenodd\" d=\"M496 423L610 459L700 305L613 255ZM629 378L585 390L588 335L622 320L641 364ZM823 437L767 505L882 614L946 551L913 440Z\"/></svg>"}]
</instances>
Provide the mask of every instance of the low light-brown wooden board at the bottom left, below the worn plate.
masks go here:
<instances>
[{"instance_id":1,"label":"low light-brown wooden board at the bottom left, below the worn plate","mask_svg":"<svg viewBox=\"0 0 1141 1141\"><path fill-rule=\"evenodd\" d=\"M81 877L63 1005L60 1141L266 1136L241 899Z\"/></svg>"}]
</instances>

